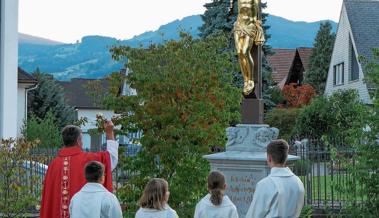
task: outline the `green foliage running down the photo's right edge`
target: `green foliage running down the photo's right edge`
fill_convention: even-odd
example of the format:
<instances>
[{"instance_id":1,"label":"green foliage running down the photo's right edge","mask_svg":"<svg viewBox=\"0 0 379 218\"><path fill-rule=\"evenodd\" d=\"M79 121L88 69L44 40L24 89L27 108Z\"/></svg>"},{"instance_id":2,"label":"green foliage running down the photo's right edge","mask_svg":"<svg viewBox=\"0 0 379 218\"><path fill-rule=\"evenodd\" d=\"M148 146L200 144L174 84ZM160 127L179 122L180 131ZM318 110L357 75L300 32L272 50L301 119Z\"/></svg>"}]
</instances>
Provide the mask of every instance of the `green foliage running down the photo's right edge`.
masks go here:
<instances>
[{"instance_id":1,"label":"green foliage running down the photo's right edge","mask_svg":"<svg viewBox=\"0 0 379 218\"><path fill-rule=\"evenodd\" d=\"M345 190L363 196L363 204L351 204L352 214L363 217L377 217L379 214L379 49L373 49L373 59L364 61L367 83L373 88L371 97L373 106L364 113L366 126L364 131L356 130L349 137L349 142L355 145L357 157L354 165L349 165L355 182ZM357 188L357 185L362 187Z\"/></svg>"}]
</instances>

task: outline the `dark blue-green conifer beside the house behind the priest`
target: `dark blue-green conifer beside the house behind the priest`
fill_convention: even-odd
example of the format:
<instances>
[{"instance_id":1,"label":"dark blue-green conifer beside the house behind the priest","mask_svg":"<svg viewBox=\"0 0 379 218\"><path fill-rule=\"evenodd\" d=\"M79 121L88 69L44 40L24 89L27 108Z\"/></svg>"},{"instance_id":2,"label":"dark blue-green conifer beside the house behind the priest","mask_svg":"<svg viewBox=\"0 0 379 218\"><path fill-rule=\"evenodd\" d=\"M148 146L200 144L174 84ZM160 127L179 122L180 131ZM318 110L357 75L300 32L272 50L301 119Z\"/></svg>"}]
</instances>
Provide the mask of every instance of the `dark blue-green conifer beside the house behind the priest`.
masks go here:
<instances>
[{"instance_id":1,"label":"dark blue-green conifer beside the house behind the priest","mask_svg":"<svg viewBox=\"0 0 379 218\"><path fill-rule=\"evenodd\" d=\"M38 87L28 93L28 117L44 119L51 111L59 127L70 124L75 119L75 110L67 104L63 88L52 76L37 69L33 76L38 80Z\"/></svg>"}]
</instances>

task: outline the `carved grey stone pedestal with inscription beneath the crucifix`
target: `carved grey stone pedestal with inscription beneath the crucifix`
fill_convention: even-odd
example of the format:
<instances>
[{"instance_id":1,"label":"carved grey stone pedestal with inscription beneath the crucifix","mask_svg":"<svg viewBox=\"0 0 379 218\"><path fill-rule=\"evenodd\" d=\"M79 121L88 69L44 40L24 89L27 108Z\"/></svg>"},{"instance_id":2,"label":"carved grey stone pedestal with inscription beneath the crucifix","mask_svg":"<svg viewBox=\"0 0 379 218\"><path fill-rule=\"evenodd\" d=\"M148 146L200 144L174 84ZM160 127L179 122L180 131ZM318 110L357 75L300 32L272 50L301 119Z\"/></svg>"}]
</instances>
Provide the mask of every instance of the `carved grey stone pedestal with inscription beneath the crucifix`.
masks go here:
<instances>
[{"instance_id":1,"label":"carved grey stone pedestal with inscription beneath the crucifix","mask_svg":"<svg viewBox=\"0 0 379 218\"><path fill-rule=\"evenodd\" d=\"M205 155L211 170L225 174L226 195L236 205L239 217L244 218L253 200L255 185L270 173L267 166L266 147L277 139L279 130L268 125L246 125L226 129L226 152ZM288 164L299 157L289 155Z\"/></svg>"}]
</instances>

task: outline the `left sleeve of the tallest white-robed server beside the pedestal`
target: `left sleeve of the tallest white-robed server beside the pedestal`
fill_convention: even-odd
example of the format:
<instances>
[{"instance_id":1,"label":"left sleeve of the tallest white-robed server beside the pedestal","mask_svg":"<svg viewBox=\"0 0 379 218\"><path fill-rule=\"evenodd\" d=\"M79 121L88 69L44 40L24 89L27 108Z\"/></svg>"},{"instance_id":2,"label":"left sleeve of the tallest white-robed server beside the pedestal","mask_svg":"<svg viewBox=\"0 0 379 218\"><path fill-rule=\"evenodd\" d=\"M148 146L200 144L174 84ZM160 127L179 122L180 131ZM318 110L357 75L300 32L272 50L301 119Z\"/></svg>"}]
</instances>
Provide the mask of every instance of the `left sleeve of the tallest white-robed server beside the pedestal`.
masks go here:
<instances>
[{"instance_id":1,"label":"left sleeve of the tallest white-robed server beside the pedestal","mask_svg":"<svg viewBox=\"0 0 379 218\"><path fill-rule=\"evenodd\" d=\"M246 218L266 217L276 197L277 192L274 185L268 185L267 180L263 183L258 182L253 196L253 202L247 211Z\"/></svg>"}]
</instances>

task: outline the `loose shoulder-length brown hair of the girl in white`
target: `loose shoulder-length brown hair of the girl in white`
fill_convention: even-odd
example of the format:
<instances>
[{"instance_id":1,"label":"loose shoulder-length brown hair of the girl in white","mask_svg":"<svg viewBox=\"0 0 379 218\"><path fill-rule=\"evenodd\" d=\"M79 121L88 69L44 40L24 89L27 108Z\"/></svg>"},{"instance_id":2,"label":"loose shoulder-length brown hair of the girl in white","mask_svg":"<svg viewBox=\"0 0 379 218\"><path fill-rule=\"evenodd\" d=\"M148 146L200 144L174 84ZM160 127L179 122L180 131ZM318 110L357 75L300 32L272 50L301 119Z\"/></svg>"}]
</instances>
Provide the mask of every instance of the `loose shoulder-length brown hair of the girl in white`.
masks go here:
<instances>
[{"instance_id":1,"label":"loose shoulder-length brown hair of the girl in white","mask_svg":"<svg viewBox=\"0 0 379 218\"><path fill-rule=\"evenodd\" d=\"M142 208L162 210L165 203L166 192L168 191L168 183L164 179L151 179L143 190L143 194L138 201Z\"/></svg>"}]
</instances>

